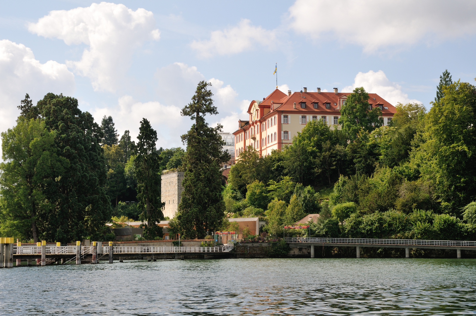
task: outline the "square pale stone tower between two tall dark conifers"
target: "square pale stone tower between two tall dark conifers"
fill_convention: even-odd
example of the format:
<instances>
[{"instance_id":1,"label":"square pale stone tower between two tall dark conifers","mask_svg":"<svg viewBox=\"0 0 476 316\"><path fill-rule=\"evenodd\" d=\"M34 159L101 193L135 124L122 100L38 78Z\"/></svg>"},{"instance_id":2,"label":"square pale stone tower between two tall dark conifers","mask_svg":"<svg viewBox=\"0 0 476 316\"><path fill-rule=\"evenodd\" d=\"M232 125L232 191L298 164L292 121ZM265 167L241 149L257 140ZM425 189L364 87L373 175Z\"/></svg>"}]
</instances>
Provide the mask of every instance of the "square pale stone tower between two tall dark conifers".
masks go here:
<instances>
[{"instance_id":1,"label":"square pale stone tower between two tall dark conifers","mask_svg":"<svg viewBox=\"0 0 476 316\"><path fill-rule=\"evenodd\" d=\"M165 202L164 216L170 219L175 216L182 197L183 172L162 175L160 196Z\"/></svg>"}]
</instances>

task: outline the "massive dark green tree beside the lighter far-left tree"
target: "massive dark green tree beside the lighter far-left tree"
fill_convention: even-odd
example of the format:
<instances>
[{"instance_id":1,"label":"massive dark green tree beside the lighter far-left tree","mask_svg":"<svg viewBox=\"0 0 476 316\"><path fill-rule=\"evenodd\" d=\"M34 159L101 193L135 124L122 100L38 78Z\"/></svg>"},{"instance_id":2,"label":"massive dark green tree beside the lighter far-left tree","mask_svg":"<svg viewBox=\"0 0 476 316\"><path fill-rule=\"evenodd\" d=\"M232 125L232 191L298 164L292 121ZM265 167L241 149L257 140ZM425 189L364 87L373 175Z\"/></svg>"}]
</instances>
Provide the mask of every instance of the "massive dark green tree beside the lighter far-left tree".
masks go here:
<instances>
[{"instance_id":1,"label":"massive dark green tree beside the lighter far-left tree","mask_svg":"<svg viewBox=\"0 0 476 316\"><path fill-rule=\"evenodd\" d=\"M78 108L78 100L48 93L37 108L48 132L54 131L51 154L59 163L45 161L42 192L51 203L40 217L40 237L70 242L104 238L111 205L106 195L106 162L99 142L102 131L89 112Z\"/></svg>"}]
</instances>

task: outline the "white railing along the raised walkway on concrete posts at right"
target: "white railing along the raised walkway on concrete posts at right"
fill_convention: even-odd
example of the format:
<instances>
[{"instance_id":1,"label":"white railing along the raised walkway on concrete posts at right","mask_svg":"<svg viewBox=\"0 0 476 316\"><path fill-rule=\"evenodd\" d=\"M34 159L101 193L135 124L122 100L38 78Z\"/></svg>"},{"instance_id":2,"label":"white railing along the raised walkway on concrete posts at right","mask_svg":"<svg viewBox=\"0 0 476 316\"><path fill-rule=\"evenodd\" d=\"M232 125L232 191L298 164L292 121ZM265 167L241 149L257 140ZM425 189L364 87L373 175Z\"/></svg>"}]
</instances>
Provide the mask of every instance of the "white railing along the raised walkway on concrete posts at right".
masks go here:
<instances>
[{"instance_id":1,"label":"white railing along the raised walkway on concrete posts at right","mask_svg":"<svg viewBox=\"0 0 476 316\"><path fill-rule=\"evenodd\" d=\"M288 243L333 243L367 245L408 245L408 246L446 246L476 247L476 241L466 240L422 240L422 239L372 239L372 238L284 238Z\"/></svg>"}]
</instances>

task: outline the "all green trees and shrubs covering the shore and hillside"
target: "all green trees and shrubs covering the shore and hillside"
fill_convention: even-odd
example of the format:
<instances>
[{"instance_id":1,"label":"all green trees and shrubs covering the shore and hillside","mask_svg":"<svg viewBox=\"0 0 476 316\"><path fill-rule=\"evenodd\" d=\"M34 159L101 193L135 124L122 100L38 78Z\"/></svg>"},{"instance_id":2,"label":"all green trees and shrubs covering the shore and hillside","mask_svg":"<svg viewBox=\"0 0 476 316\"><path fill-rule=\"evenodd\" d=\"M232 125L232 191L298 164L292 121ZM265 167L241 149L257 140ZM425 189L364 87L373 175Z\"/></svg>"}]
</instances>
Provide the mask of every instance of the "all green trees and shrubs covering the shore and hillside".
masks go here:
<instances>
[{"instance_id":1,"label":"all green trees and shrubs covering the shore and hillside","mask_svg":"<svg viewBox=\"0 0 476 316\"><path fill-rule=\"evenodd\" d=\"M1 133L0 235L22 241L115 240L107 222L164 220L160 174L185 172L184 194L171 236L210 239L239 230L229 217L266 221L241 243L285 237L476 239L476 87L440 76L431 109L397 104L383 126L357 88L341 109L341 128L311 121L283 151L259 157L246 148L232 165L228 184L220 166L221 126L209 84L200 82L182 115L194 122L183 148L157 149L157 133L141 121L139 142L121 138L112 117L101 126L74 98L47 94L33 106L20 103L17 125ZM319 214L307 229L287 229ZM161 228L145 227L145 239Z\"/></svg>"}]
</instances>

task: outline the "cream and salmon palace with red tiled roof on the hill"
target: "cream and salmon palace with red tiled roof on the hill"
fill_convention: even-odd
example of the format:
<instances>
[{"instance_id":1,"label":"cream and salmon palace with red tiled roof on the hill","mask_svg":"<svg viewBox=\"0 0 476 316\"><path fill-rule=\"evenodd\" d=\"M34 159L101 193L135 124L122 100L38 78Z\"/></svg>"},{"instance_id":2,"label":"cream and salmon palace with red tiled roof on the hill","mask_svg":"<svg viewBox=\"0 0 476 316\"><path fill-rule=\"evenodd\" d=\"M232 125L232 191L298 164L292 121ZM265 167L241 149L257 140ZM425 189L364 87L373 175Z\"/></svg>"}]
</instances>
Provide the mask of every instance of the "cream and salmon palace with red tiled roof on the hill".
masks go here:
<instances>
[{"instance_id":1,"label":"cream and salmon palace with red tiled roof on the hill","mask_svg":"<svg viewBox=\"0 0 476 316\"><path fill-rule=\"evenodd\" d=\"M345 104L350 92L307 92L288 94L275 89L268 97L251 101L248 107L249 120L238 120L235 135L235 157L248 146L255 148L260 156L271 154L273 149L282 150L291 145L292 139L307 122L322 120L330 128L339 128L340 107ZM391 121L395 107L376 93L369 93L370 107L382 110L384 125Z\"/></svg>"}]
</instances>

